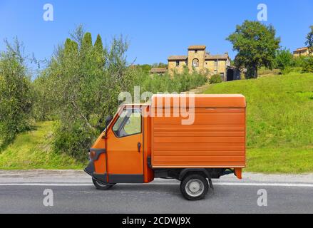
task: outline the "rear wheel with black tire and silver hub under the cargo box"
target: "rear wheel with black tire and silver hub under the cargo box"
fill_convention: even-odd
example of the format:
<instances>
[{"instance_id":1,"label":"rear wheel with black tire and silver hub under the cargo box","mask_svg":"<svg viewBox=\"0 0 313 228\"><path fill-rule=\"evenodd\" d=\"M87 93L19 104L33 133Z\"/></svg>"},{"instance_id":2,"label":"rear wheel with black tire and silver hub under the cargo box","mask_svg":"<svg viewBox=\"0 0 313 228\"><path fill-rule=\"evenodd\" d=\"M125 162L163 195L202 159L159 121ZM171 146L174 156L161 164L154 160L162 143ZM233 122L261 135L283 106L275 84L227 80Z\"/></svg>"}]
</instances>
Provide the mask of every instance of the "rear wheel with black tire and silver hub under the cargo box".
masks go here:
<instances>
[{"instance_id":1,"label":"rear wheel with black tire and silver hub under the cargo box","mask_svg":"<svg viewBox=\"0 0 313 228\"><path fill-rule=\"evenodd\" d=\"M207 195L209 185L207 179L199 174L190 174L180 182L180 192L188 200L203 199Z\"/></svg>"}]
</instances>

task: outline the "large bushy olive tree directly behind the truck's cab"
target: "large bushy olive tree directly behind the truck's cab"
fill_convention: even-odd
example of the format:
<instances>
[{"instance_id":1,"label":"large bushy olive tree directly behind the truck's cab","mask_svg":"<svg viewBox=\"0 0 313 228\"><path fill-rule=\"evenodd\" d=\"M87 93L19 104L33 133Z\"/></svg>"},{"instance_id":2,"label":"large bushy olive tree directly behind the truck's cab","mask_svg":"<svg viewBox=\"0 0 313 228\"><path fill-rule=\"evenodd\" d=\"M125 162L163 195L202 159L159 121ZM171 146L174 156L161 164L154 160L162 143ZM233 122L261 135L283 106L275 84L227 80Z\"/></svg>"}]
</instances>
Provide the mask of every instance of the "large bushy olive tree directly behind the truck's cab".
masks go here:
<instances>
[{"instance_id":1,"label":"large bushy olive tree directly behind the truck's cab","mask_svg":"<svg viewBox=\"0 0 313 228\"><path fill-rule=\"evenodd\" d=\"M114 38L109 49L103 48L101 36L93 46L91 33L77 41L81 43L66 39L35 84L40 86L36 87L39 100L46 100L40 110L50 112L41 118L58 115L56 150L83 159L103 130L106 115L116 111L118 93L128 90L131 83L125 73L127 43L123 38Z\"/></svg>"}]
</instances>

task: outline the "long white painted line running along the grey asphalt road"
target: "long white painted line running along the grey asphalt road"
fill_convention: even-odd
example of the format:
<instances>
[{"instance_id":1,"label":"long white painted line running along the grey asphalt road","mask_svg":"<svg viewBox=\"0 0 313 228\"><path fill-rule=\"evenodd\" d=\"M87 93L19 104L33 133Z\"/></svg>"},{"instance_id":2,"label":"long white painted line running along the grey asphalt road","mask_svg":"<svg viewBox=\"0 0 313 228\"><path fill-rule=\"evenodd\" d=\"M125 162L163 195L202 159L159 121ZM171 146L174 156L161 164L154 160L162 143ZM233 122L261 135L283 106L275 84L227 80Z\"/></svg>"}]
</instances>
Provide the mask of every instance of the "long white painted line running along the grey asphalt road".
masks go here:
<instances>
[{"instance_id":1,"label":"long white painted line running along the grey asphalt road","mask_svg":"<svg viewBox=\"0 0 313 228\"><path fill-rule=\"evenodd\" d=\"M177 183L150 183L149 185L178 185ZM122 184L120 184L122 185ZM125 185L125 184L123 184ZM139 185L139 184L135 184ZM240 183L240 182L213 182L213 185L222 186L269 186L269 187L313 187L313 184L307 183ZM84 187L93 186L93 184L77 183L77 184L63 184L63 183L0 183L0 186L56 186L56 187Z\"/></svg>"}]
</instances>

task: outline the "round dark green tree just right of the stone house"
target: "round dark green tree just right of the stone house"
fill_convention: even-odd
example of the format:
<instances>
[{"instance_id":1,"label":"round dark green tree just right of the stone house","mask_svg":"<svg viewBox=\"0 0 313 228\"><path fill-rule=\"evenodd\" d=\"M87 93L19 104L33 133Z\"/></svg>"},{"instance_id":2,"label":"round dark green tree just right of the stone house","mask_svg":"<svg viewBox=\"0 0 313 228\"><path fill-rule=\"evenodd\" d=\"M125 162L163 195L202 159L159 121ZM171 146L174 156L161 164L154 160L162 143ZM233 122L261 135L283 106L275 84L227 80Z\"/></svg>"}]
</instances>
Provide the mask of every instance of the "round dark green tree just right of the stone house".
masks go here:
<instances>
[{"instance_id":1,"label":"round dark green tree just right of the stone house","mask_svg":"<svg viewBox=\"0 0 313 228\"><path fill-rule=\"evenodd\" d=\"M246 78L257 78L257 68L272 69L280 38L272 25L265 26L259 21L245 21L237 25L236 31L227 37L238 51L235 57L237 67L247 68Z\"/></svg>"}]
</instances>

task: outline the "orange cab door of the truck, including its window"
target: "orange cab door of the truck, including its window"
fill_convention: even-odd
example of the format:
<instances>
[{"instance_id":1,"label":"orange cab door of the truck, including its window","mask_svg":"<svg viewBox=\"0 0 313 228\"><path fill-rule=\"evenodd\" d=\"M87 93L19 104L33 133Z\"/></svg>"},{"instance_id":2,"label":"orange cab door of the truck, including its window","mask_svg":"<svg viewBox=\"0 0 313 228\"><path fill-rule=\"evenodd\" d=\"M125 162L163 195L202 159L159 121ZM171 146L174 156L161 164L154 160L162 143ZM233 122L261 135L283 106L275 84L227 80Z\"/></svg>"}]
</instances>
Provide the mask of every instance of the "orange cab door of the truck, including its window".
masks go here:
<instances>
[{"instance_id":1,"label":"orange cab door of the truck, including its window","mask_svg":"<svg viewBox=\"0 0 313 228\"><path fill-rule=\"evenodd\" d=\"M108 181L143 183L141 108L124 108L108 133Z\"/></svg>"}]
</instances>

